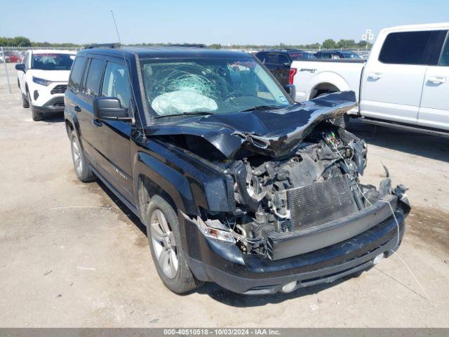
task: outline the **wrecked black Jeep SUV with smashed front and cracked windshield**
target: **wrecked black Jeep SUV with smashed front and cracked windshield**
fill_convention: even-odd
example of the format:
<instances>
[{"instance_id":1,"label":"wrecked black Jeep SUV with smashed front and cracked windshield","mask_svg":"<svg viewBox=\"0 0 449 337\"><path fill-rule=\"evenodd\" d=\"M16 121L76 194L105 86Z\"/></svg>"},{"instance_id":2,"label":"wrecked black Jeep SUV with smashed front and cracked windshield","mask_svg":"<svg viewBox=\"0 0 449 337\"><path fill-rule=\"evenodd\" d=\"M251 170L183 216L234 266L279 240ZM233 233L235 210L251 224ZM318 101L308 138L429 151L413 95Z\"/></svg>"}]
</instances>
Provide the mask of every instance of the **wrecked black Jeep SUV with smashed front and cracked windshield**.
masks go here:
<instances>
[{"instance_id":1,"label":"wrecked black Jeep SUV with smashed front and cracked windshield","mask_svg":"<svg viewBox=\"0 0 449 337\"><path fill-rule=\"evenodd\" d=\"M362 185L366 143L330 123L353 92L295 104L247 53L87 48L65 103L76 176L139 216L175 293L290 292L357 275L401 242L406 188Z\"/></svg>"}]
</instances>

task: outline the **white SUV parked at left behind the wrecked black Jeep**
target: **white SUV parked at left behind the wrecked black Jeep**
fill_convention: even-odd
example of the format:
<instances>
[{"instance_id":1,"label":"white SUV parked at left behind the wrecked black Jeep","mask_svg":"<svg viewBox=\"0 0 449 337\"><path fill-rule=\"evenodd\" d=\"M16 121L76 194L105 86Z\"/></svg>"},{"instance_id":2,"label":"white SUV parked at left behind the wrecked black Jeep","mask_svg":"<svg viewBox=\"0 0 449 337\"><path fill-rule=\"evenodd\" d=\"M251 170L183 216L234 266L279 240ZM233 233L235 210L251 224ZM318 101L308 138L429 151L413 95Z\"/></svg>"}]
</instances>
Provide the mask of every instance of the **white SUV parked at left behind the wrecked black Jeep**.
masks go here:
<instances>
[{"instance_id":1,"label":"white SUV parked at left behind the wrecked black Jeep","mask_svg":"<svg viewBox=\"0 0 449 337\"><path fill-rule=\"evenodd\" d=\"M22 107L31 107L34 121L43 112L63 112L64 93L76 51L29 50L18 70Z\"/></svg>"}]
</instances>

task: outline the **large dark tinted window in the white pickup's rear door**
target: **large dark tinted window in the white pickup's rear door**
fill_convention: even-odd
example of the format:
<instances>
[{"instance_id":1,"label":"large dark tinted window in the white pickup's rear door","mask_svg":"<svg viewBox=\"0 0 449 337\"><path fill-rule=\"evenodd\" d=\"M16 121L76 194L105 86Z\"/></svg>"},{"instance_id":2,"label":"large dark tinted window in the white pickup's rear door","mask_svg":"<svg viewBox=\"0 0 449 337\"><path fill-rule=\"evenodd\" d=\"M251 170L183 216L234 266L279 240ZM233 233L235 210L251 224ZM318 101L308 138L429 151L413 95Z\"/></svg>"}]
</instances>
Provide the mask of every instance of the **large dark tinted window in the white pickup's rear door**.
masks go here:
<instances>
[{"instance_id":1,"label":"large dark tinted window in the white pickup's rear door","mask_svg":"<svg viewBox=\"0 0 449 337\"><path fill-rule=\"evenodd\" d=\"M436 65L446 33L442 30L390 33L379 60L396 65Z\"/></svg>"}]
</instances>

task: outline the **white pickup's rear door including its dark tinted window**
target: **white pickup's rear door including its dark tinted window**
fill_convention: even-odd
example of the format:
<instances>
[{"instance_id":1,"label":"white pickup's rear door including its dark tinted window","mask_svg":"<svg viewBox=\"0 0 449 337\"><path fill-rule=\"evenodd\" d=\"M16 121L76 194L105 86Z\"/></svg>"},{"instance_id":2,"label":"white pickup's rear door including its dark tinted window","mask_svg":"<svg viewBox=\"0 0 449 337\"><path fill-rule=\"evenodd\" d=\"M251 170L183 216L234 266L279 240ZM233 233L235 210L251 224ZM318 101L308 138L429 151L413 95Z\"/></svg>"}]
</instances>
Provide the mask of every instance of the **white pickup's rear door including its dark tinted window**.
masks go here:
<instances>
[{"instance_id":1,"label":"white pickup's rear door including its dark tinted window","mask_svg":"<svg viewBox=\"0 0 449 337\"><path fill-rule=\"evenodd\" d=\"M391 32L385 37L378 58L370 58L363 71L363 116L417 124L424 76L440 32Z\"/></svg>"}]
</instances>

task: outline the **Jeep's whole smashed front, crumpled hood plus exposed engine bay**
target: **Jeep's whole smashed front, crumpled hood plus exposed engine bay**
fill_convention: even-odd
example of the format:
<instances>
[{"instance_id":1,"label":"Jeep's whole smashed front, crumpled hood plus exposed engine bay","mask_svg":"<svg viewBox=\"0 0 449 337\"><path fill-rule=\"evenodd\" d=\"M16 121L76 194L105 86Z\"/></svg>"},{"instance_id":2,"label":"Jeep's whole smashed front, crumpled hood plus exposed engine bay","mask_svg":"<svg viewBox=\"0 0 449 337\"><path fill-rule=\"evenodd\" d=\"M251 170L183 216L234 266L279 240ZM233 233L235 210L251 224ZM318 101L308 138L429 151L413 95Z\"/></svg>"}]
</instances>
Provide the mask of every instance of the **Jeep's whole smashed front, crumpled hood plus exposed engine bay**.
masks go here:
<instances>
[{"instance_id":1,"label":"Jeep's whole smashed front, crumpled hood plus exposed engine bay","mask_svg":"<svg viewBox=\"0 0 449 337\"><path fill-rule=\"evenodd\" d=\"M363 246L354 238L396 219L398 209L403 217L410 211L406 187L392 188L389 178L378 189L360 183L366 143L332 124L354 104L354 93L335 93L287 110L189 118L148 134L207 159L234 182L233 211L200 207L192 216L200 232L274 262L348 240ZM389 249L399 242L398 228Z\"/></svg>"}]
</instances>

